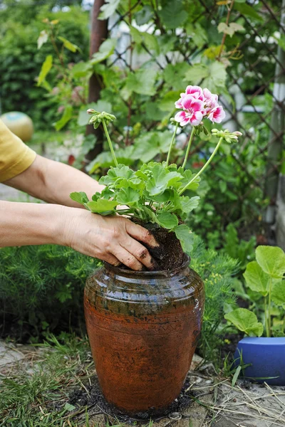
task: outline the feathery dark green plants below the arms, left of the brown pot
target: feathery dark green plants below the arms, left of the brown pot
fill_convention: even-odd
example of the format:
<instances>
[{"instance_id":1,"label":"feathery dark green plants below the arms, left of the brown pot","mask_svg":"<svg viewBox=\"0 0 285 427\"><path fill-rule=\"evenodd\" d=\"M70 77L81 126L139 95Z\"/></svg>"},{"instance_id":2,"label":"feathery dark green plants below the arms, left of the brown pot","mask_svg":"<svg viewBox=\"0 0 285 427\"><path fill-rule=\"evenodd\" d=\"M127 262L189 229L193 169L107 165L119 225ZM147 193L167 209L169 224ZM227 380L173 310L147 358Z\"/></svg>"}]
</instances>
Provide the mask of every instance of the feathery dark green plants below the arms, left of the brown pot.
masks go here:
<instances>
[{"instance_id":1,"label":"feathery dark green plants below the arms, left of the brown pot","mask_svg":"<svg viewBox=\"0 0 285 427\"><path fill-rule=\"evenodd\" d=\"M11 320L18 325L16 334L26 339L46 330L68 330L70 322L80 326L84 283L97 265L61 246L1 248L2 328Z\"/></svg>"}]
</instances>

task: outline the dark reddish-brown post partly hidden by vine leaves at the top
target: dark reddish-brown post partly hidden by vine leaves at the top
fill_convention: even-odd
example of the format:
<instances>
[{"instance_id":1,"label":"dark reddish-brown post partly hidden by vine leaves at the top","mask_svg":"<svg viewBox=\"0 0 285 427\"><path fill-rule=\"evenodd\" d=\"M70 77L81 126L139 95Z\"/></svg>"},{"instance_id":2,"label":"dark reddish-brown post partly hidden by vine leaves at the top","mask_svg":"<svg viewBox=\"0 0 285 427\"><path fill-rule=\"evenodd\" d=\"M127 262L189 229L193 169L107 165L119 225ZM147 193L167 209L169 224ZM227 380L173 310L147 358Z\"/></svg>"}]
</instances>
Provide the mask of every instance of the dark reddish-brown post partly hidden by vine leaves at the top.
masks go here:
<instances>
[{"instance_id":1,"label":"dark reddish-brown post partly hidden by vine leaves at the top","mask_svg":"<svg viewBox=\"0 0 285 427\"><path fill-rule=\"evenodd\" d=\"M99 51L100 45L108 36L108 21L98 19L100 7L105 4L105 0L94 0L91 12L91 36L90 36L90 58L93 53ZM95 74L91 75L89 80L88 102L96 102L100 98L100 82ZM97 142L95 147L88 152L86 158L93 160L103 151L103 132L100 128L94 129L93 125L87 125L86 135L95 135Z\"/></svg>"}]
</instances>

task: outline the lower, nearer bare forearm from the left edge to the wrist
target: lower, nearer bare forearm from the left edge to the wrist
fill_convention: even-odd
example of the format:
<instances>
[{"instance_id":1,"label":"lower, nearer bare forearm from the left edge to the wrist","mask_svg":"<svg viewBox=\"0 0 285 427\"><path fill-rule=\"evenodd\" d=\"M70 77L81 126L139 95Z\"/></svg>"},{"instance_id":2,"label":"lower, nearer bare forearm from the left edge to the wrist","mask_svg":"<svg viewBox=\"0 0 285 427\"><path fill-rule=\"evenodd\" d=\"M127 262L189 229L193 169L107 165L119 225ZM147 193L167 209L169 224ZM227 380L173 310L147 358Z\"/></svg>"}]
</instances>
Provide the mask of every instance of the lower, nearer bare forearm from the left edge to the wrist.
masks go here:
<instances>
[{"instance_id":1,"label":"lower, nearer bare forearm from the left edge to the wrist","mask_svg":"<svg viewBox=\"0 0 285 427\"><path fill-rule=\"evenodd\" d=\"M63 206L0 201L0 247L61 242Z\"/></svg>"}]
</instances>

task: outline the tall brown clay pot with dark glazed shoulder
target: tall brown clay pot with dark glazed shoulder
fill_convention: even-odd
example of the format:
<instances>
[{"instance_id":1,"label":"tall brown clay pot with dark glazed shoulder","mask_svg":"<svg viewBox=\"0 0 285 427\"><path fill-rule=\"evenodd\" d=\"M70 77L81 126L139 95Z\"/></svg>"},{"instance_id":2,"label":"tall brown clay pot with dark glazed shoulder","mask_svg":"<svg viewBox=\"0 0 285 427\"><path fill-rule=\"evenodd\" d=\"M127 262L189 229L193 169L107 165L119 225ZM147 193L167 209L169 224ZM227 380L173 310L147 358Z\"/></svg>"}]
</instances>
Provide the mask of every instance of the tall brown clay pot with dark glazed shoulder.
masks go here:
<instances>
[{"instance_id":1,"label":"tall brown clay pot with dark glazed shoulder","mask_svg":"<svg viewBox=\"0 0 285 427\"><path fill-rule=\"evenodd\" d=\"M171 272L105 265L88 278L85 315L103 395L130 416L177 396L202 326L204 286L190 259Z\"/></svg>"}]
</instances>

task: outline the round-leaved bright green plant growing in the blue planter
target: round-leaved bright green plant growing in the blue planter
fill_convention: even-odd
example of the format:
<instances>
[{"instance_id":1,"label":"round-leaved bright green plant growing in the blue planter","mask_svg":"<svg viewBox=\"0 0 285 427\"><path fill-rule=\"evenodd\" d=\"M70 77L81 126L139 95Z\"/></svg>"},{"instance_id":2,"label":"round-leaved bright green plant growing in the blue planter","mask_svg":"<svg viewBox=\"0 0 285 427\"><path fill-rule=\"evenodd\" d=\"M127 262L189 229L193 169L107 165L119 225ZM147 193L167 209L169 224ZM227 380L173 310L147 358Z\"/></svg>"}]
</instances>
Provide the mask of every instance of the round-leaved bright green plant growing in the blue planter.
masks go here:
<instances>
[{"instance_id":1,"label":"round-leaved bright green plant growing in the blue planter","mask_svg":"<svg viewBox=\"0 0 285 427\"><path fill-rule=\"evenodd\" d=\"M281 248L258 246L255 255L257 261L247 265L244 279L257 300L257 314L264 321L258 322L257 315L247 309L238 309L227 313L225 318L242 332L260 337L264 329L266 337L271 334L284 335L285 308L285 253ZM264 312L261 314L259 300L262 299ZM272 316L275 318L272 320ZM283 319L283 320L282 320Z\"/></svg>"}]
</instances>

